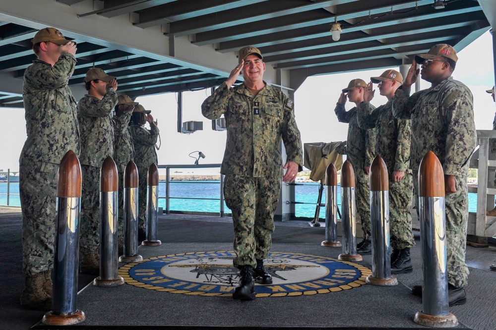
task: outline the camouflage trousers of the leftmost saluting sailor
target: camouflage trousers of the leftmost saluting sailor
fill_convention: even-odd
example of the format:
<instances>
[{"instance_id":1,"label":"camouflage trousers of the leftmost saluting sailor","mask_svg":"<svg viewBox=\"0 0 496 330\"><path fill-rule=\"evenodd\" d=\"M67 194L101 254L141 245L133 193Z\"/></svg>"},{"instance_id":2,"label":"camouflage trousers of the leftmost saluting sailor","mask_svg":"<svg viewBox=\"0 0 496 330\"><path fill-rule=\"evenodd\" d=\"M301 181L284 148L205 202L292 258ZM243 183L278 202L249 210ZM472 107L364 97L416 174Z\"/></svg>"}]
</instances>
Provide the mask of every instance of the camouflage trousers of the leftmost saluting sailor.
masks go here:
<instances>
[{"instance_id":1,"label":"camouflage trousers of the leftmost saluting sailor","mask_svg":"<svg viewBox=\"0 0 496 330\"><path fill-rule=\"evenodd\" d=\"M22 272L26 276L53 268L58 171L58 164L41 162L19 168Z\"/></svg>"}]
</instances>

